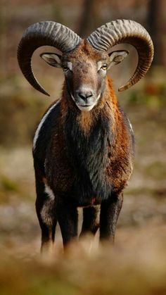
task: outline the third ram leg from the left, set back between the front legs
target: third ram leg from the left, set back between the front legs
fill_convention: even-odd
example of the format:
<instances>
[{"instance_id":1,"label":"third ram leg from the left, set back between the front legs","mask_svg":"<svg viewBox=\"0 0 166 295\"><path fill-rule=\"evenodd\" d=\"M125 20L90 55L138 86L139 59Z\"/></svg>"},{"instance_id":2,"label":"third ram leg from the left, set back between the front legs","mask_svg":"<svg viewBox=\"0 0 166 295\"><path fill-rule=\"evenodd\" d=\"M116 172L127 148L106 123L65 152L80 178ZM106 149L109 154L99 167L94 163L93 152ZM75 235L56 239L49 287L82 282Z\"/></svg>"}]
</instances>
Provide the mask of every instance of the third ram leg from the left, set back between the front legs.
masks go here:
<instances>
[{"instance_id":1,"label":"third ram leg from the left, set back between the front legs","mask_svg":"<svg viewBox=\"0 0 166 295\"><path fill-rule=\"evenodd\" d=\"M87 207L83 209L82 231L79 237L85 234L96 234L99 227L100 206Z\"/></svg>"}]
</instances>

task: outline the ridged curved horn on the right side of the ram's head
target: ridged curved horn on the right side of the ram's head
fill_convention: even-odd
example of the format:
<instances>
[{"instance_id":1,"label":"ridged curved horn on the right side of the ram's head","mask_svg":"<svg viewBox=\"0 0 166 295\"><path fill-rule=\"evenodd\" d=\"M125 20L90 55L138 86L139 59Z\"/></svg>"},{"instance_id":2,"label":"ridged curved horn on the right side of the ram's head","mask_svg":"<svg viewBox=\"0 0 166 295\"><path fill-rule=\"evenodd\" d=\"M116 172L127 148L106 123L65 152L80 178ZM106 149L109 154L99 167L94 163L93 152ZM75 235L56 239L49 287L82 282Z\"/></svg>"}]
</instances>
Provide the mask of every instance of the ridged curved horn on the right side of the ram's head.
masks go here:
<instances>
[{"instance_id":1,"label":"ridged curved horn on the right side of the ram's head","mask_svg":"<svg viewBox=\"0 0 166 295\"><path fill-rule=\"evenodd\" d=\"M98 27L87 38L88 42L98 51L108 51L120 43L133 45L139 55L138 65L129 81L118 90L123 91L136 84L146 75L153 61L153 42L150 35L139 23L134 20L113 20Z\"/></svg>"}]
</instances>

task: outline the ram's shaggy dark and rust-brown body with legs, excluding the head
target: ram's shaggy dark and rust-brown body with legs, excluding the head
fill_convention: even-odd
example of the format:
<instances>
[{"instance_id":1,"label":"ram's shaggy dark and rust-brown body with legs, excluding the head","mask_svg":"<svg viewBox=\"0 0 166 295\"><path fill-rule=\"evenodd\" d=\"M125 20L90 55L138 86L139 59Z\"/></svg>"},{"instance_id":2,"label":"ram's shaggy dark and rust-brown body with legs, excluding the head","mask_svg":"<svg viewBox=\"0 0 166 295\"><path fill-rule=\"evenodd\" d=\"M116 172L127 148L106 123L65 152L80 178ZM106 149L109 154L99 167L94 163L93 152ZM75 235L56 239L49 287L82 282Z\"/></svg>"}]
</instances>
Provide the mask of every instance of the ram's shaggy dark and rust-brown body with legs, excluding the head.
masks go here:
<instances>
[{"instance_id":1,"label":"ram's shaggy dark and rust-brown body with legs, excluding the head","mask_svg":"<svg viewBox=\"0 0 166 295\"><path fill-rule=\"evenodd\" d=\"M64 245L77 237L78 206L84 206L81 235L100 226L101 239L114 239L132 173L134 135L109 78L102 92L92 111L82 112L65 82L39 131L33 154L42 249L53 242L57 221Z\"/></svg>"}]
</instances>

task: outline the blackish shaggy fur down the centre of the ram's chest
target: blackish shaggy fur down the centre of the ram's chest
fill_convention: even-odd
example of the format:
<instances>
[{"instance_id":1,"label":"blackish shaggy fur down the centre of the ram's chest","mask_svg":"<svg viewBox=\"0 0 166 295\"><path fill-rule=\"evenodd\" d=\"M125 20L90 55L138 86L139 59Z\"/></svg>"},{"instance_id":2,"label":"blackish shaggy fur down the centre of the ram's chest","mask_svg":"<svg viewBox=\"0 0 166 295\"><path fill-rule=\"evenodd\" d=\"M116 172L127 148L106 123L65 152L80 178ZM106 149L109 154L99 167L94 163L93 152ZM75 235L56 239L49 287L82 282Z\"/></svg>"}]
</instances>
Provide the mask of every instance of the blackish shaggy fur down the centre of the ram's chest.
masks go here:
<instances>
[{"instance_id":1,"label":"blackish shaggy fur down the centre of the ram's chest","mask_svg":"<svg viewBox=\"0 0 166 295\"><path fill-rule=\"evenodd\" d=\"M65 125L68 159L76 175L72 192L79 199L106 198L110 193L106 167L111 141L110 123L103 118L98 118L87 134L75 120L68 120Z\"/></svg>"}]
</instances>

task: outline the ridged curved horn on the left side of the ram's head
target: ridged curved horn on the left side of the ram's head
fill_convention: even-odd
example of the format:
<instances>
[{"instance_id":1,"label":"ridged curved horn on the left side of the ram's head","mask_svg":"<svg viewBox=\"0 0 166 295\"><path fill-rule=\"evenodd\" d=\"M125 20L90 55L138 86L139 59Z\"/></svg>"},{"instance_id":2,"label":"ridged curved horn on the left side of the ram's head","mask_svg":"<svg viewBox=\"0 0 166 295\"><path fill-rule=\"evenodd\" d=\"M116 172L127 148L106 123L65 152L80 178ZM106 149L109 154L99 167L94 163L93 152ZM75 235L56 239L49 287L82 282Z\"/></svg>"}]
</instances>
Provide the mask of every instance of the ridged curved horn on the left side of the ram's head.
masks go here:
<instances>
[{"instance_id":1,"label":"ridged curved horn on the left side of the ram's head","mask_svg":"<svg viewBox=\"0 0 166 295\"><path fill-rule=\"evenodd\" d=\"M54 46L63 53L67 53L75 49L80 41L81 38L75 32L60 23L48 21L30 25L18 45L18 63L27 81L39 92L49 96L34 77L31 66L32 54L40 46L46 45Z\"/></svg>"}]
</instances>

